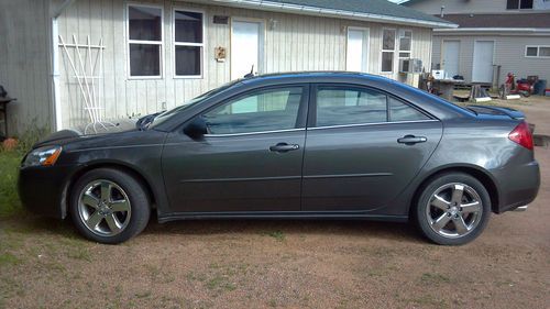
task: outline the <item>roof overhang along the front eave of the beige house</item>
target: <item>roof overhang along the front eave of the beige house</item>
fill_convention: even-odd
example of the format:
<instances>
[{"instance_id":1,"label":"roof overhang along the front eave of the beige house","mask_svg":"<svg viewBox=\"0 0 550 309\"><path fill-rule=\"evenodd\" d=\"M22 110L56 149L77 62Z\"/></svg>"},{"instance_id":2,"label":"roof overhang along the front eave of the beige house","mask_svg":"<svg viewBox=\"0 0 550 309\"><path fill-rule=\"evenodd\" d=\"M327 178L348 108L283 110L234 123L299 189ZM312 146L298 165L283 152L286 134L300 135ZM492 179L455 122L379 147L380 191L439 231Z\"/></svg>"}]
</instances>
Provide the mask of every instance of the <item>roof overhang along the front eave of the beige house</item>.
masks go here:
<instances>
[{"instance_id":1,"label":"roof overhang along the front eave of the beige house","mask_svg":"<svg viewBox=\"0 0 550 309\"><path fill-rule=\"evenodd\" d=\"M391 15L332 10L332 9L297 5L297 4L280 3L280 2L264 1L264 0L190 0L190 2L272 11L272 12L295 13L302 15L331 16L331 18L360 20L367 22L405 24L405 25L414 25L414 26L431 27L431 29L436 27L452 29L459 26L458 24L453 23L432 22L418 19L407 19L407 18L391 16Z\"/></svg>"}]
</instances>

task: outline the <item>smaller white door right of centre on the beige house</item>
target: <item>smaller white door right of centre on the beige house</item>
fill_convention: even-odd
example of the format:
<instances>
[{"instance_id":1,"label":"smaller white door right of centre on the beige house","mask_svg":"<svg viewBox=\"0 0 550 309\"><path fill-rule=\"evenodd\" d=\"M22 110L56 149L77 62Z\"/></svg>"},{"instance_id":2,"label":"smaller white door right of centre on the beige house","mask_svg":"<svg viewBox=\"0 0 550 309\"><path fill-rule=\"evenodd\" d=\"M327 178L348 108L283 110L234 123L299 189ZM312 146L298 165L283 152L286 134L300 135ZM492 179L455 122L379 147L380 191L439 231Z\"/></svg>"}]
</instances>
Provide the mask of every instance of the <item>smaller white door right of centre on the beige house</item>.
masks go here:
<instances>
[{"instance_id":1,"label":"smaller white door right of centre on the beige house","mask_svg":"<svg viewBox=\"0 0 550 309\"><path fill-rule=\"evenodd\" d=\"M348 29L348 51L345 69L350 71L369 70L369 30Z\"/></svg>"}]
</instances>

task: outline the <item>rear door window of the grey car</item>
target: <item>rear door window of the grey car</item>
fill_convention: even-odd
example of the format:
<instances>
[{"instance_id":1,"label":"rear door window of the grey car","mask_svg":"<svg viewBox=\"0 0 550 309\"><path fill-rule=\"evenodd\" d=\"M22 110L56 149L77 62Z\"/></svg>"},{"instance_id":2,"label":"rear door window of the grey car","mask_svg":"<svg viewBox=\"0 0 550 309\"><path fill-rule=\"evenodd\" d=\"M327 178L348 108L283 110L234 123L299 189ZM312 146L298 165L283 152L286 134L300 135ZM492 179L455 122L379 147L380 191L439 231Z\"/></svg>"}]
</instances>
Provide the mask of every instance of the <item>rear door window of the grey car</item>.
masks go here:
<instances>
[{"instance_id":1,"label":"rear door window of the grey car","mask_svg":"<svg viewBox=\"0 0 550 309\"><path fill-rule=\"evenodd\" d=\"M319 88L317 126L387 121L386 95L367 89Z\"/></svg>"}]
</instances>

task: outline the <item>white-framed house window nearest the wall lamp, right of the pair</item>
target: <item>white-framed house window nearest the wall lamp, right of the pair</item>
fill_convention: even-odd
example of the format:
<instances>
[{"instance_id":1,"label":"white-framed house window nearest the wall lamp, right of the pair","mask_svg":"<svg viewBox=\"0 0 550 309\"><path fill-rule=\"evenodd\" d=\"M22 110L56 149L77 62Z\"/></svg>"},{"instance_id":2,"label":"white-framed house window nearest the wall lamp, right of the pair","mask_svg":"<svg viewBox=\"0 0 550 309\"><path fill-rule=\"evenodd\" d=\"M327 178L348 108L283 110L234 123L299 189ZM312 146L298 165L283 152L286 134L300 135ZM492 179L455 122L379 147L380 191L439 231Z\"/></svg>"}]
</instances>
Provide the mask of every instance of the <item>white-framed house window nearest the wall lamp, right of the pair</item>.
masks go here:
<instances>
[{"instance_id":1,"label":"white-framed house window nearest the wall lamp, right of the pair","mask_svg":"<svg viewBox=\"0 0 550 309\"><path fill-rule=\"evenodd\" d=\"M190 13L202 14L202 43L187 43L187 42L176 42L176 11L184 11ZM189 9L185 7L174 7L172 10L172 63L174 64L174 79L202 79L205 78L205 59L206 59L206 11ZM200 75L177 75L176 70L176 46L195 46L201 47L200 53Z\"/></svg>"}]
</instances>

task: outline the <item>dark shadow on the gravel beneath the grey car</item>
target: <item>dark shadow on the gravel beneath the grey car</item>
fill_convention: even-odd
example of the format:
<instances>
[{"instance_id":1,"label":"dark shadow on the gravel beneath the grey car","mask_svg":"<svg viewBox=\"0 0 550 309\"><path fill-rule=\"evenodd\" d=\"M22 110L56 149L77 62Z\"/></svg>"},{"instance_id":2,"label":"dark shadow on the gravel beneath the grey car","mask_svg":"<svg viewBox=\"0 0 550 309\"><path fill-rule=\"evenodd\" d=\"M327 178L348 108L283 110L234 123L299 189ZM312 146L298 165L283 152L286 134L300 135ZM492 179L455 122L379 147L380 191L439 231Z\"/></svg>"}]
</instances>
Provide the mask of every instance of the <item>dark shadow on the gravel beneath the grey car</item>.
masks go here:
<instances>
[{"instance_id":1,"label":"dark shadow on the gravel beneath the grey car","mask_svg":"<svg viewBox=\"0 0 550 309\"><path fill-rule=\"evenodd\" d=\"M63 238L80 238L72 220L56 220L25 213L23 220L2 220L7 229L25 234L56 234ZM408 223L369 220L187 220L158 223L156 214L142 232L143 235L285 235L362 236L403 242L425 242L418 231Z\"/></svg>"}]
</instances>

